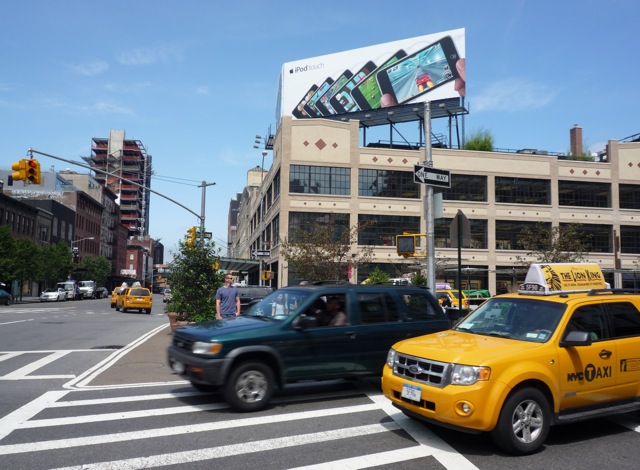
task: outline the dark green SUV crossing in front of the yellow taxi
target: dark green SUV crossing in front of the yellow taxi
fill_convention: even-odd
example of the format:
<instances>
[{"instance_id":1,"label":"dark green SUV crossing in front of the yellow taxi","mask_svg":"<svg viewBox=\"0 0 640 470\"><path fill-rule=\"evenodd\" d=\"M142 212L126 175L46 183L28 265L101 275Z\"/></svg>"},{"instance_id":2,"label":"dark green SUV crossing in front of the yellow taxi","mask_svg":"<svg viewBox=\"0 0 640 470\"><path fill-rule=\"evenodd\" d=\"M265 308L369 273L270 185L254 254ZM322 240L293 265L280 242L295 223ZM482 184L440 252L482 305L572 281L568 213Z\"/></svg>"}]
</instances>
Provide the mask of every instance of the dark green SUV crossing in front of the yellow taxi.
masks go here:
<instances>
[{"instance_id":1,"label":"dark green SUV crossing in front of the yellow taxi","mask_svg":"<svg viewBox=\"0 0 640 470\"><path fill-rule=\"evenodd\" d=\"M238 317L178 328L168 361L195 388L256 411L287 383L379 375L392 344L449 326L425 288L286 287Z\"/></svg>"}]
</instances>

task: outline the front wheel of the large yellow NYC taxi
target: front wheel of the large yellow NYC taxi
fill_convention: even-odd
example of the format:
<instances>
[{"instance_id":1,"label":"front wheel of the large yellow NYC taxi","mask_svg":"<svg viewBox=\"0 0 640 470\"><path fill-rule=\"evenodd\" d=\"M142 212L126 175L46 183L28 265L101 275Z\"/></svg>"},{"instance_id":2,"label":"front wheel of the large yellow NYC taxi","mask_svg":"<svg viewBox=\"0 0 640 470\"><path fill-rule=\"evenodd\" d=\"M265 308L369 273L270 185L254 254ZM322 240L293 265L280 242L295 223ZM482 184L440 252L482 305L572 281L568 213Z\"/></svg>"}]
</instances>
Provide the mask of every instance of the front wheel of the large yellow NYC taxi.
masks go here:
<instances>
[{"instance_id":1,"label":"front wheel of the large yellow NYC taxi","mask_svg":"<svg viewBox=\"0 0 640 470\"><path fill-rule=\"evenodd\" d=\"M535 388L523 388L504 402L491 437L503 450L527 455L540 450L550 426L551 411L545 395Z\"/></svg>"}]
</instances>

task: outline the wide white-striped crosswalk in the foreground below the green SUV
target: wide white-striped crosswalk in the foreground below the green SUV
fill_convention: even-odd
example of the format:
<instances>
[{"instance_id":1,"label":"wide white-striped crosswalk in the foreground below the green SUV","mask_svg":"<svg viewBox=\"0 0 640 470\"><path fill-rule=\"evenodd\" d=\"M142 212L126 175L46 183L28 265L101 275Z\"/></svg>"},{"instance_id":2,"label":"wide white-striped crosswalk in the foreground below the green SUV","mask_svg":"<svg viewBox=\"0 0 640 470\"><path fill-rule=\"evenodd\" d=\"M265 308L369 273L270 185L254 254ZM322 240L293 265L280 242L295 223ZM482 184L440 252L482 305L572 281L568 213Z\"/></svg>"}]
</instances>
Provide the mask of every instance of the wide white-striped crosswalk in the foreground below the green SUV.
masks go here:
<instances>
[{"instance_id":1,"label":"wide white-striped crosswalk in the foreground below the green SUV","mask_svg":"<svg viewBox=\"0 0 640 470\"><path fill-rule=\"evenodd\" d=\"M0 468L476 468L373 388L281 397L253 414L215 397L189 387L46 392L0 419Z\"/></svg>"}]
</instances>

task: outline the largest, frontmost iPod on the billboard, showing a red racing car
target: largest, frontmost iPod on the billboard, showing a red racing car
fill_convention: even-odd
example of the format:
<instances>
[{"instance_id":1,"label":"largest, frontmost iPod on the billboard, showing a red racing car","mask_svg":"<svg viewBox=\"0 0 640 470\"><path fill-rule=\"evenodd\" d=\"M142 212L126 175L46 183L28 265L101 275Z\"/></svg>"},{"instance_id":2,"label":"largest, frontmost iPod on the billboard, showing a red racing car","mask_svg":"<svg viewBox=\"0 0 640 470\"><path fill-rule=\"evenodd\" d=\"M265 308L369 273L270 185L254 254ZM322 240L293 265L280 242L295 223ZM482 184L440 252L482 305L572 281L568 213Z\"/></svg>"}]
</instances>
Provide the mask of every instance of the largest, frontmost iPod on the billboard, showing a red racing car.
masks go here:
<instances>
[{"instance_id":1,"label":"largest, frontmost iPod on the billboard, showing a red racing car","mask_svg":"<svg viewBox=\"0 0 640 470\"><path fill-rule=\"evenodd\" d=\"M445 36L380 70L376 79L390 103L402 104L458 78L459 59L453 39Z\"/></svg>"}]
</instances>

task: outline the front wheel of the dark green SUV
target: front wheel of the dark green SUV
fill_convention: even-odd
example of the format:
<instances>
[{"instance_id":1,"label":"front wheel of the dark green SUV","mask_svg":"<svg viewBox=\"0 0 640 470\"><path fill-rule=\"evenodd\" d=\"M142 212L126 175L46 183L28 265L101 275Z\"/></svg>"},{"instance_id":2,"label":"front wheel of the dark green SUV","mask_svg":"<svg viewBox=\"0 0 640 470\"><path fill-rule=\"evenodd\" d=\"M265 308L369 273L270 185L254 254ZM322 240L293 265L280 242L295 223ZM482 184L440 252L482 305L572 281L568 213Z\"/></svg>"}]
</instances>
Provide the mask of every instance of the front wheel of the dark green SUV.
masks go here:
<instances>
[{"instance_id":1,"label":"front wheel of the dark green SUV","mask_svg":"<svg viewBox=\"0 0 640 470\"><path fill-rule=\"evenodd\" d=\"M263 362L245 362L234 368L224 385L224 399L238 411L258 411L273 395L271 368Z\"/></svg>"}]
</instances>

